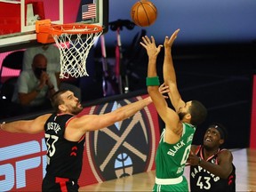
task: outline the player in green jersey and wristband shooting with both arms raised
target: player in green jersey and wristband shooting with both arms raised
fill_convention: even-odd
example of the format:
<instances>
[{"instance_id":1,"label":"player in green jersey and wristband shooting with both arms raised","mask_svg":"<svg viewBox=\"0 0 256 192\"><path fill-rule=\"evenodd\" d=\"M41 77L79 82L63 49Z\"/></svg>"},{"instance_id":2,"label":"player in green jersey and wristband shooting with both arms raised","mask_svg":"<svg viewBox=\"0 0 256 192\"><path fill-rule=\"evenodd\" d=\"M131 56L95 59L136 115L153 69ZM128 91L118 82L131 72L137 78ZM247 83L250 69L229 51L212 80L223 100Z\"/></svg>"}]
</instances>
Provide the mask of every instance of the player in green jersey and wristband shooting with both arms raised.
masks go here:
<instances>
[{"instance_id":1,"label":"player in green jersey and wristband shooting with both arms raised","mask_svg":"<svg viewBox=\"0 0 256 192\"><path fill-rule=\"evenodd\" d=\"M196 125L204 122L207 116L207 110L201 102L185 102L180 97L171 54L172 44L179 32L180 29L170 38L166 36L164 39L164 84L169 88L168 96L175 110L168 107L158 91L160 83L156 73L156 58L163 45L156 47L153 36L144 36L140 42L148 53L148 93L165 124L156 151L156 181L153 191L188 191L188 181L183 176L184 167Z\"/></svg>"}]
</instances>

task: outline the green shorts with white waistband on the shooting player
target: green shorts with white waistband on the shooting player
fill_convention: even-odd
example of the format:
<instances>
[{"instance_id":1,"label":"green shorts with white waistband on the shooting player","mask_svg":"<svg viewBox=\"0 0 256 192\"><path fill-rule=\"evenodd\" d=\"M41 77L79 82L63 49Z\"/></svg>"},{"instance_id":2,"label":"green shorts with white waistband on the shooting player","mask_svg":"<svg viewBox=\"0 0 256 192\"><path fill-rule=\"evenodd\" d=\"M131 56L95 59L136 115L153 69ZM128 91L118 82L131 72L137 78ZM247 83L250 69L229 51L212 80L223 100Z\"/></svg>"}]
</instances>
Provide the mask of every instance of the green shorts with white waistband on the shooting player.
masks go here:
<instances>
[{"instance_id":1,"label":"green shorts with white waistband on the shooting player","mask_svg":"<svg viewBox=\"0 0 256 192\"><path fill-rule=\"evenodd\" d=\"M188 181L184 176L175 179L157 179L152 191L188 192Z\"/></svg>"}]
</instances>

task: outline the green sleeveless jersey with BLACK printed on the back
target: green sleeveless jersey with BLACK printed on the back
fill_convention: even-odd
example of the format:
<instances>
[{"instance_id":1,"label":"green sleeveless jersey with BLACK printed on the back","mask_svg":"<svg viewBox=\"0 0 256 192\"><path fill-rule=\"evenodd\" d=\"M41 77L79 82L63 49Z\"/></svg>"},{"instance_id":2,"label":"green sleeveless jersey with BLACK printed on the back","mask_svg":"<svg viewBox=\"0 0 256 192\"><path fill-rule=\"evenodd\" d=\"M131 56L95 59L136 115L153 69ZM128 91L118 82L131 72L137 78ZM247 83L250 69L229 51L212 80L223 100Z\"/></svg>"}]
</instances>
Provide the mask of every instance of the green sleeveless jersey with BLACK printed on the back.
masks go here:
<instances>
[{"instance_id":1,"label":"green sleeveless jersey with BLACK printed on the back","mask_svg":"<svg viewBox=\"0 0 256 192\"><path fill-rule=\"evenodd\" d=\"M183 123L180 140L175 144L168 144L164 142L165 129L163 130L156 151L156 178L172 179L183 175L195 131L192 124Z\"/></svg>"}]
</instances>

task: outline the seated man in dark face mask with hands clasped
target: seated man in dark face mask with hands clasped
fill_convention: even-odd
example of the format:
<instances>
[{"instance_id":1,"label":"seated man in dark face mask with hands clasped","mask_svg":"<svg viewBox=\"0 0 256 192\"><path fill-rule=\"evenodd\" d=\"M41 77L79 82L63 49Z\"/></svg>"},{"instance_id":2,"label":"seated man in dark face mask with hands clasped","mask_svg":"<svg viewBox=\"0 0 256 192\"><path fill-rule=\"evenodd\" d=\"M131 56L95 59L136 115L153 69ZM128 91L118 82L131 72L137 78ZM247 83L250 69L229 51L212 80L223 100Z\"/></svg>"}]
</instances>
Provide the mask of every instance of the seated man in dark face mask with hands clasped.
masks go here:
<instances>
[{"instance_id":1,"label":"seated man in dark face mask with hands clasped","mask_svg":"<svg viewBox=\"0 0 256 192\"><path fill-rule=\"evenodd\" d=\"M12 96L23 112L51 108L49 98L59 90L54 73L46 72L47 59L39 53L33 59L32 69L22 70Z\"/></svg>"}]
</instances>

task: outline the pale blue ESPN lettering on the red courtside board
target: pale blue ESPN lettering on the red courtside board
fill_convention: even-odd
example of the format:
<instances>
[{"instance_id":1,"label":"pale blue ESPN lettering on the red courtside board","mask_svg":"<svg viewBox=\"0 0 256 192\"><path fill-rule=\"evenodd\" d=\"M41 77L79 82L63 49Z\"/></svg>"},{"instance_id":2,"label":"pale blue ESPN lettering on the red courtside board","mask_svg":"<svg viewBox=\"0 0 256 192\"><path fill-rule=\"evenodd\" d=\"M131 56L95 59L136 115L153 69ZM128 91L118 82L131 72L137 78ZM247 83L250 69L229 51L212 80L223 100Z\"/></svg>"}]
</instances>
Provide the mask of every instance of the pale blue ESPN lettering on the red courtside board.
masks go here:
<instances>
[{"instance_id":1,"label":"pale blue ESPN lettering on the red courtside board","mask_svg":"<svg viewBox=\"0 0 256 192\"><path fill-rule=\"evenodd\" d=\"M0 150L0 188L1 191L10 191L26 188L28 185L28 171L33 171L37 180L36 185L41 187L46 167L46 146L44 139L41 145L37 140L1 148ZM5 162L5 164L4 164ZM40 180L38 180L40 179Z\"/></svg>"}]
</instances>

